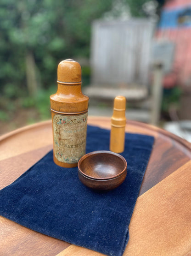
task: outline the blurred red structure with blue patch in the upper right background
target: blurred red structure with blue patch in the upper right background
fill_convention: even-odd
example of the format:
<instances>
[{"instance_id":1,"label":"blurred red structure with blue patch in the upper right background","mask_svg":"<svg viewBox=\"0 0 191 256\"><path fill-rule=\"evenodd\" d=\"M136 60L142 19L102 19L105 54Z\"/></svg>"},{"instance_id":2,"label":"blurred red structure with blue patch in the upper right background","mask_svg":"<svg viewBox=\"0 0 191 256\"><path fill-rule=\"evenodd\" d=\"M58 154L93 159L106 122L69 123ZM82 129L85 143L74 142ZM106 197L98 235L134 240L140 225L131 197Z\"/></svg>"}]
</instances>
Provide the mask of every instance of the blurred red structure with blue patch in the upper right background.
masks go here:
<instances>
[{"instance_id":1,"label":"blurred red structure with blue patch in the upper right background","mask_svg":"<svg viewBox=\"0 0 191 256\"><path fill-rule=\"evenodd\" d=\"M165 76L164 87L191 87L191 0L166 1L156 37L175 44L172 72Z\"/></svg>"}]
</instances>

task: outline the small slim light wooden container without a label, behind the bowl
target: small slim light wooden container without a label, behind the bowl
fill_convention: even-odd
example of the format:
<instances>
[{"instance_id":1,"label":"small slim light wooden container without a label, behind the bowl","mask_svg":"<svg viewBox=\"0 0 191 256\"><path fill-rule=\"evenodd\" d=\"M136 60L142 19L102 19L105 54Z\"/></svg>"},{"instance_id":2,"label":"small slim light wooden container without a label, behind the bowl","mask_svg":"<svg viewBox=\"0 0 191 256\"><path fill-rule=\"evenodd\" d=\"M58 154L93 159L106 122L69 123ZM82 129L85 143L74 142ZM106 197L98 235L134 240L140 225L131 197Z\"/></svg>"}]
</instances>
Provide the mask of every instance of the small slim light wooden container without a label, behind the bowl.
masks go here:
<instances>
[{"instance_id":1,"label":"small slim light wooden container without a label, behind the bowl","mask_svg":"<svg viewBox=\"0 0 191 256\"><path fill-rule=\"evenodd\" d=\"M115 97L110 133L110 150L115 153L124 152L126 125L125 109L125 97L120 95Z\"/></svg>"}]
</instances>

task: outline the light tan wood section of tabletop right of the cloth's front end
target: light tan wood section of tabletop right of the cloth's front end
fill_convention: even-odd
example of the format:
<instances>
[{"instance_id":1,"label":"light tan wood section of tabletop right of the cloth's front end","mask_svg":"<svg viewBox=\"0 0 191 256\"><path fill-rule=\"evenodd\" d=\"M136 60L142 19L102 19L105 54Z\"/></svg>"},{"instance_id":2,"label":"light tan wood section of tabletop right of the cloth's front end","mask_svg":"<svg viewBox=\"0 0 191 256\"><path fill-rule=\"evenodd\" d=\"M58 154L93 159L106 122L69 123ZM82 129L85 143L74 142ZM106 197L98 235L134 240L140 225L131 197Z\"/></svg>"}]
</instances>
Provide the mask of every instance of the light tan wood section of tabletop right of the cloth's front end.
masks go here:
<instances>
[{"instance_id":1,"label":"light tan wood section of tabletop right of the cloth's front end","mask_svg":"<svg viewBox=\"0 0 191 256\"><path fill-rule=\"evenodd\" d=\"M129 233L124 256L191 255L191 161L137 199Z\"/></svg>"}]
</instances>

